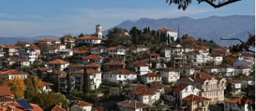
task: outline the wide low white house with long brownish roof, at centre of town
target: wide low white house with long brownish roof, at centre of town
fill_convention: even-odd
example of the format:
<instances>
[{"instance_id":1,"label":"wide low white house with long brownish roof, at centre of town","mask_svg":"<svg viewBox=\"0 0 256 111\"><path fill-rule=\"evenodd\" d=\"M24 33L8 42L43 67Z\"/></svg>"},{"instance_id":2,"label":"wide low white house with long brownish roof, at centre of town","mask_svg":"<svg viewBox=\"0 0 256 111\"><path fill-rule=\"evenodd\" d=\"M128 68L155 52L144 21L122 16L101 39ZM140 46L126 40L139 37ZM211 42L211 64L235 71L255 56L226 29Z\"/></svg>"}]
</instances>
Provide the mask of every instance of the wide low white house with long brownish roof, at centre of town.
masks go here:
<instances>
[{"instance_id":1,"label":"wide low white house with long brownish roof, at centre of town","mask_svg":"<svg viewBox=\"0 0 256 111\"><path fill-rule=\"evenodd\" d=\"M135 81L137 74L130 70L113 70L103 74L103 81L111 83L127 83L127 81Z\"/></svg>"}]
</instances>

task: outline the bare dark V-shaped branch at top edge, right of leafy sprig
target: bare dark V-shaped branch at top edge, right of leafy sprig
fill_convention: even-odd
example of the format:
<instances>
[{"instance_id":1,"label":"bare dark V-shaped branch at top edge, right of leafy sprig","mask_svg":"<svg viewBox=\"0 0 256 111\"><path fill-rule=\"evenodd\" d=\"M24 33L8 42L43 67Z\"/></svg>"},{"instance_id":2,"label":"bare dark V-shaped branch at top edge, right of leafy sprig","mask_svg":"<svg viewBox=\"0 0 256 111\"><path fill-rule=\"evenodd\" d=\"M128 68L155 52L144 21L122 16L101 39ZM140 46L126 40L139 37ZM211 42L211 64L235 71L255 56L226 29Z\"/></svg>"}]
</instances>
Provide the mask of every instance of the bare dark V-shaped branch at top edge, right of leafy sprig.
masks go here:
<instances>
[{"instance_id":1,"label":"bare dark V-shaped branch at top edge, right of leafy sprig","mask_svg":"<svg viewBox=\"0 0 256 111\"><path fill-rule=\"evenodd\" d=\"M232 4L236 1L241 1L241 0L227 0L227 1L224 1L222 3L219 3L219 4L214 4L213 1L210 1L210 0L197 0L198 1L198 4L200 4L202 1L206 2L207 4L210 4L211 7L214 7L214 8L219 8L219 7L223 7L227 4Z\"/></svg>"}]
</instances>

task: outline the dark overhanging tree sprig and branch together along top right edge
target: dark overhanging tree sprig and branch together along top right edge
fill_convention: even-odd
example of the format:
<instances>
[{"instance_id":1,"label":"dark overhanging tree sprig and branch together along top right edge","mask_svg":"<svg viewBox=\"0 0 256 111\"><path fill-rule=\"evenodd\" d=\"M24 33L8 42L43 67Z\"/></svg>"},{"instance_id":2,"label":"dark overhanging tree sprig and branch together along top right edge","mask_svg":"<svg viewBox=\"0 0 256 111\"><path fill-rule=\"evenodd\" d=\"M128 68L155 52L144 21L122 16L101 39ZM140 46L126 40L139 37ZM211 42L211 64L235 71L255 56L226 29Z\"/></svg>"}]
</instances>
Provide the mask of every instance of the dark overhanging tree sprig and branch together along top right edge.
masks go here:
<instances>
[{"instance_id":1,"label":"dark overhanging tree sprig and branch together along top right edge","mask_svg":"<svg viewBox=\"0 0 256 111\"><path fill-rule=\"evenodd\" d=\"M201 2L206 2L207 4L211 5L211 7L214 8L219 8L219 7L223 7L227 4L232 4L235 3L236 1L241 1L241 0L197 0L198 4L200 4ZM178 9L183 9L186 10L187 7L189 7L189 4L192 3L192 0L166 0L167 4L177 4L178 5Z\"/></svg>"}]
</instances>

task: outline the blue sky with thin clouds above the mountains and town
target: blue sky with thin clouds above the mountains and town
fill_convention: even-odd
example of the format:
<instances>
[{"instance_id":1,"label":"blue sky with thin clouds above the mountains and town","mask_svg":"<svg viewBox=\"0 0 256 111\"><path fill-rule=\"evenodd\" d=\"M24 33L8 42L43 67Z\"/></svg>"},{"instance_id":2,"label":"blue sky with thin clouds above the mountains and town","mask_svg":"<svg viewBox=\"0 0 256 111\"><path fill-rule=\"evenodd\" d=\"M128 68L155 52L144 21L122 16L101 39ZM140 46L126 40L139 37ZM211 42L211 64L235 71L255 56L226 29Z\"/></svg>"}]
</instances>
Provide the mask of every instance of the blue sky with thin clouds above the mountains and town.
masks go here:
<instances>
[{"instance_id":1,"label":"blue sky with thin clouds above the mountains and town","mask_svg":"<svg viewBox=\"0 0 256 111\"><path fill-rule=\"evenodd\" d=\"M192 4L186 11L165 0L1 0L0 36L39 36L94 33L94 25L111 28L124 20L147 18L255 15L255 0L242 0L214 9Z\"/></svg>"}]
</instances>

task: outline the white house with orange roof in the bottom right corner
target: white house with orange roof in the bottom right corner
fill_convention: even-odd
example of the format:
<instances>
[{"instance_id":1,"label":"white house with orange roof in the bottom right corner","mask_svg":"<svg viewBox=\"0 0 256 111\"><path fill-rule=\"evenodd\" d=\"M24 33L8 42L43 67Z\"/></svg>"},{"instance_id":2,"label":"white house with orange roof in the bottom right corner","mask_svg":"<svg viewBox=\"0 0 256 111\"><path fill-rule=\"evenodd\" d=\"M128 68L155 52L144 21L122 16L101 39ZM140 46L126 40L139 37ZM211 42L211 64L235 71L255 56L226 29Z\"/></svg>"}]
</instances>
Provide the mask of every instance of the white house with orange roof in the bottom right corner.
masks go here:
<instances>
[{"instance_id":1,"label":"white house with orange roof in the bottom right corner","mask_svg":"<svg viewBox=\"0 0 256 111\"><path fill-rule=\"evenodd\" d=\"M253 100L245 99L244 104L241 103L241 98L233 98L225 100L224 111L249 111L249 104L254 104Z\"/></svg>"}]
</instances>

